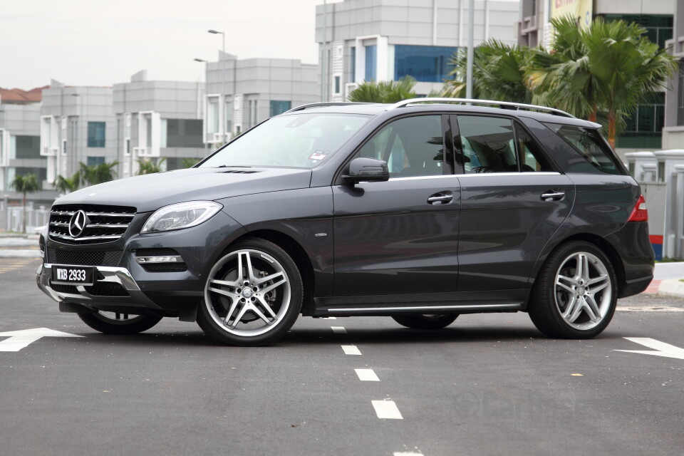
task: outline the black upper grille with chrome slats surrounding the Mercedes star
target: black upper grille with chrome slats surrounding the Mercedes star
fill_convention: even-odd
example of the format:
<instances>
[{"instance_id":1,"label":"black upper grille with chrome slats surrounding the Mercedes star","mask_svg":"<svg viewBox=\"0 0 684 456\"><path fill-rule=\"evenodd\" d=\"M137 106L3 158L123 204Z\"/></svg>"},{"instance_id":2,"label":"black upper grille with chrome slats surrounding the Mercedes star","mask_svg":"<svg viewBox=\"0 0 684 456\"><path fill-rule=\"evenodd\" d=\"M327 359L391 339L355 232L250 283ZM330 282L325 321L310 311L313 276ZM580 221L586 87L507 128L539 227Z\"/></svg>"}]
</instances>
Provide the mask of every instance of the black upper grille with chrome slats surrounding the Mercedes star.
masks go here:
<instances>
[{"instance_id":1,"label":"black upper grille with chrome slats surrounding the Mercedes star","mask_svg":"<svg viewBox=\"0 0 684 456\"><path fill-rule=\"evenodd\" d=\"M72 237L69 222L77 211L86 212L90 220L83 232ZM114 242L123 236L135 217L135 207L100 206L95 204L59 204L50 213L49 236L65 244L99 244Z\"/></svg>"}]
</instances>

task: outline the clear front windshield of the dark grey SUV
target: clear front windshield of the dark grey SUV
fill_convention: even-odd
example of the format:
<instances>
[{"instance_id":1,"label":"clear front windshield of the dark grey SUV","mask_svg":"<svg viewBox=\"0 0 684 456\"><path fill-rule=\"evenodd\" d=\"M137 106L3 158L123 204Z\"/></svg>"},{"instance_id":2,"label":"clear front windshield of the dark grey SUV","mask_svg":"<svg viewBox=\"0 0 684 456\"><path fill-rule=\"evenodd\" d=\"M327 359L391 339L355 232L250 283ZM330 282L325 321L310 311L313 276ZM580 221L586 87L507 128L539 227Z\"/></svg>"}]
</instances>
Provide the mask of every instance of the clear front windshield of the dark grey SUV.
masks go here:
<instances>
[{"instance_id":1,"label":"clear front windshield of the dark grey SUV","mask_svg":"<svg viewBox=\"0 0 684 456\"><path fill-rule=\"evenodd\" d=\"M342 147L369 117L323 113L274 117L243 133L199 167L312 168Z\"/></svg>"}]
</instances>

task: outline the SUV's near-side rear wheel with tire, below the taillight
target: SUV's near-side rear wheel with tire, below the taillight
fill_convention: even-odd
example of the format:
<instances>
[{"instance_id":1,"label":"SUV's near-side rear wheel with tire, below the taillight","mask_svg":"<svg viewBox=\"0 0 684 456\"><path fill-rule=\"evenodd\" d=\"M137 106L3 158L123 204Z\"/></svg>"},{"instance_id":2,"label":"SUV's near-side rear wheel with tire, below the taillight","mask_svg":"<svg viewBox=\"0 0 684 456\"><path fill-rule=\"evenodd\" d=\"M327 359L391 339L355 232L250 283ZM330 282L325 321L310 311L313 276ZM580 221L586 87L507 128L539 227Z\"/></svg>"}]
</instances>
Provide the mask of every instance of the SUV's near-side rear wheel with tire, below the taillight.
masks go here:
<instances>
[{"instance_id":1,"label":"SUV's near-side rear wheel with tire, below the taillight","mask_svg":"<svg viewBox=\"0 0 684 456\"><path fill-rule=\"evenodd\" d=\"M616 304L611 261L594 244L572 241L561 244L544 262L527 311L546 336L582 339L606 329Z\"/></svg>"}]
</instances>

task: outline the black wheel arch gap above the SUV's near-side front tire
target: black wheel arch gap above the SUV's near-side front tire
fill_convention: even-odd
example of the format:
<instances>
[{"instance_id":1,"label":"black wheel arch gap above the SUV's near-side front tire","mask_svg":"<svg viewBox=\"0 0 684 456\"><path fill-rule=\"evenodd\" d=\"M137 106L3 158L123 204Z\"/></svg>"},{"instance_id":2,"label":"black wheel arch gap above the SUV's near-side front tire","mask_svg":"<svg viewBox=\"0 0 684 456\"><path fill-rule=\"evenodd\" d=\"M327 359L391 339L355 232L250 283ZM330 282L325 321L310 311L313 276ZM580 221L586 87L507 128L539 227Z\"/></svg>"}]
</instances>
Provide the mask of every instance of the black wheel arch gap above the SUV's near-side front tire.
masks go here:
<instances>
[{"instance_id":1,"label":"black wheel arch gap above the SUV's near-side front tire","mask_svg":"<svg viewBox=\"0 0 684 456\"><path fill-rule=\"evenodd\" d=\"M279 232L274 229L257 229L243 234L237 239L234 239L228 248L237 242L252 238L259 238L273 242L287 252L287 254L293 259L297 265L297 268L299 269L299 274L301 274L302 286L304 286L304 302L301 306L301 312L304 315L310 314L310 312L314 310L313 306L314 290L316 289L316 276L314 274L314 266L311 264L311 259L309 259L309 255L306 254L304 247L301 247L299 242L296 242L294 238L283 232Z\"/></svg>"}]
</instances>

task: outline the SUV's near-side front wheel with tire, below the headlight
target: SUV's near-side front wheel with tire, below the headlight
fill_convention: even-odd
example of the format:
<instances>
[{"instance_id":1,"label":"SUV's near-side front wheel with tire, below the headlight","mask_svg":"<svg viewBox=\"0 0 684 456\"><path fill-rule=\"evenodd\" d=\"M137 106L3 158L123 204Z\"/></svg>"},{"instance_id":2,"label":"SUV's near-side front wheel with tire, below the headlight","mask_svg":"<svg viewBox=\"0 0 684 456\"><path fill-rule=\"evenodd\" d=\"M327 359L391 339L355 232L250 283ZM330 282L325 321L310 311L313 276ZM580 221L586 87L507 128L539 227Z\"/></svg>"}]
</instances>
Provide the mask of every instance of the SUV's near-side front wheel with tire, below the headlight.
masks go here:
<instances>
[{"instance_id":1,"label":"SUV's near-side front wheel with tire, below the headlight","mask_svg":"<svg viewBox=\"0 0 684 456\"><path fill-rule=\"evenodd\" d=\"M245 240L209 272L197 323L219 343L274 343L296 321L303 296L299 269L283 249L264 239Z\"/></svg>"}]
</instances>

